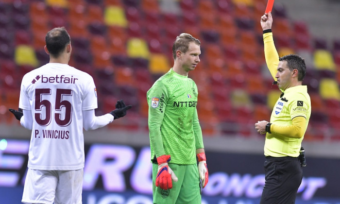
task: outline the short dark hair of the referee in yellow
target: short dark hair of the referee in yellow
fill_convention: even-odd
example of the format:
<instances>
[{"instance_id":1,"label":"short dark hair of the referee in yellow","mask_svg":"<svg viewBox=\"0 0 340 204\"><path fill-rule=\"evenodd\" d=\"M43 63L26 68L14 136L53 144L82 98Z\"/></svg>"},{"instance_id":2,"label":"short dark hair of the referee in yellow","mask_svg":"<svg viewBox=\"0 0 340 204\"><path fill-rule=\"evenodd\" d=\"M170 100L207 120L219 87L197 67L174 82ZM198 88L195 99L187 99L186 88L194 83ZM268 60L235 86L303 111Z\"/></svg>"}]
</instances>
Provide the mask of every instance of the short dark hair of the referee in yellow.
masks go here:
<instances>
[{"instance_id":1,"label":"short dark hair of the referee in yellow","mask_svg":"<svg viewBox=\"0 0 340 204\"><path fill-rule=\"evenodd\" d=\"M302 82L306 76L306 63L305 60L296 54L288 54L279 58L280 61L286 61L287 67L290 71L298 70L298 81Z\"/></svg>"}]
</instances>

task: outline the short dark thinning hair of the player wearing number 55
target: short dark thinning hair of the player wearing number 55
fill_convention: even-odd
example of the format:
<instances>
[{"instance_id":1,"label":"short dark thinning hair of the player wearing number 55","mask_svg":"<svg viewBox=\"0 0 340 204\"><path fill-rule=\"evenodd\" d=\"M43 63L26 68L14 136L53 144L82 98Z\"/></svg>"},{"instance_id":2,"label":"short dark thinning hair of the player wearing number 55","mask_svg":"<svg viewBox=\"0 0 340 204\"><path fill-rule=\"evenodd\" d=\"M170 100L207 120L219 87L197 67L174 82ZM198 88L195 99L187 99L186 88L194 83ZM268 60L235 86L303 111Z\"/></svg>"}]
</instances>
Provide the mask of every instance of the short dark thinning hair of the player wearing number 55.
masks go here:
<instances>
[{"instance_id":1,"label":"short dark thinning hair of the player wearing number 55","mask_svg":"<svg viewBox=\"0 0 340 204\"><path fill-rule=\"evenodd\" d=\"M57 58L71 42L68 32L64 27L53 28L45 37L47 50L50 55Z\"/></svg>"}]
</instances>

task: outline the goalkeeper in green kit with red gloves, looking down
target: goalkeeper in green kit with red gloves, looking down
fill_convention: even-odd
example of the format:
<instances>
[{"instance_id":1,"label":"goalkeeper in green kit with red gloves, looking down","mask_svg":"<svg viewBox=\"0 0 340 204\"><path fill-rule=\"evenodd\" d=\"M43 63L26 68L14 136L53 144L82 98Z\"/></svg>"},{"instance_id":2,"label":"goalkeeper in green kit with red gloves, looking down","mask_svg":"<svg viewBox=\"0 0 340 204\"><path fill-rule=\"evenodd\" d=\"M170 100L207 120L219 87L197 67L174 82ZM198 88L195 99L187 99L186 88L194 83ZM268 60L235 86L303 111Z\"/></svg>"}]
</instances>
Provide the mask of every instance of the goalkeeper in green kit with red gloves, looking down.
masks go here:
<instances>
[{"instance_id":1,"label":"goalkeeper in green kit with red gloves, looking down","mask_svg":"<svg viewBox=\"0 0 340 204\"><path fill-rule=\"evenodd\" d=\"M177 36L173 68L147 92L154 204L201 204L200 185L208 183L198 91L188 78L200 62L200 45L190 34Z\"/></svg>"}]
</instances>

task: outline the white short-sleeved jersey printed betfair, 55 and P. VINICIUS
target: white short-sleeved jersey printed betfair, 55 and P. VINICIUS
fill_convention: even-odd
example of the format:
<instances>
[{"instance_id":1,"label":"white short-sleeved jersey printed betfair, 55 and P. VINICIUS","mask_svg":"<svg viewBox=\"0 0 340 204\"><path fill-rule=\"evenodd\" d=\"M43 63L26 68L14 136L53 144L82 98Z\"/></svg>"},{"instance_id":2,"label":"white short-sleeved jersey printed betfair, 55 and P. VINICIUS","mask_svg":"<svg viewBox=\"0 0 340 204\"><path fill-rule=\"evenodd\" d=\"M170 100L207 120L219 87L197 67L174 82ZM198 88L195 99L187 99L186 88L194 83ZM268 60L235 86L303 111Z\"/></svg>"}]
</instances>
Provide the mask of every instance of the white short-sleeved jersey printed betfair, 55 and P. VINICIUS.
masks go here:
<instances>
[{"instance_id":1,"label":"white short-sleeved jersey printed betfair, 55 and P. VINICIUS","mask_svg":"<svg viewBox=\"0 0 340 204\"><path fill-rule=\"evenodd\" d=\"M19 108L32 111L28 167L84 168L83 111L97 108L93 78L66 64L48 63L25 74Z\"/></svg>"}]
</instances>

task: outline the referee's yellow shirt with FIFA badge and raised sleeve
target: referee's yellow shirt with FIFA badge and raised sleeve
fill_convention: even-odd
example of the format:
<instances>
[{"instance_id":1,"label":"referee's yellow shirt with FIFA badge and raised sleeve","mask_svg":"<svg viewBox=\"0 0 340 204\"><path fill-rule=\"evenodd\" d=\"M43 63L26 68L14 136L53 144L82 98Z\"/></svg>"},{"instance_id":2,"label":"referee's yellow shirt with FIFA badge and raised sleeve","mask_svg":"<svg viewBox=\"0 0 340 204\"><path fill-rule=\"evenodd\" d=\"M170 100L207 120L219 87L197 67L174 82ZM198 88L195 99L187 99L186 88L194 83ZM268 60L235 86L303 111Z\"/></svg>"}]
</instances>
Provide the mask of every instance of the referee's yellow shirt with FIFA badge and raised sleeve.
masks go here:
<instances>
[{"instance_id":1,"label":"referee's yellow shirt with FIFA badge and raised sleeve","mask_svg":"<svg viewBox=\"0 0 340 204\"><path fill-rule=\"evenodd\" d=\"M279 55L275 49L272 33L263 34L264 52L266 56L267 66L275 79L277 72L276 68L279 63ZM279 98L272 110L270 122L275 125L289 126L292 125L292 119L295 117L306 118L306 129L308 126L311 103L310 97L307 93L306 85L298 85L287 88L284 91L284 96ZM304 130L304 134L306 133ZM264 145L264 154L266 156L282 157L282 156L299 156L301 138L292 138L287 136L279 136L275 133L266 134L266 141Z\"/></svg>"}]
</instances>

